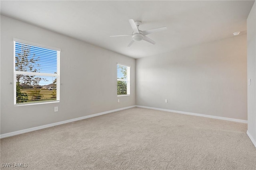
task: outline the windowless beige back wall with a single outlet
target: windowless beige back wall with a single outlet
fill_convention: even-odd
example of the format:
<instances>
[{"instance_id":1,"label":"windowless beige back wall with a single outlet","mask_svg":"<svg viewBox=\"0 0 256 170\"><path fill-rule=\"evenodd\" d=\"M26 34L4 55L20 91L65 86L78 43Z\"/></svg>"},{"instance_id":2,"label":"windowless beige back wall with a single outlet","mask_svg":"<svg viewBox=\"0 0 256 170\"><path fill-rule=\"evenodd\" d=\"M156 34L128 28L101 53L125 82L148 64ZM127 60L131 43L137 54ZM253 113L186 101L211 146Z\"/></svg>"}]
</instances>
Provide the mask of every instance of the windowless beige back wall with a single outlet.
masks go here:
<instances>
[{"instance_id":1,"label":"windowless beige back wall with a single outlet","mask_svg":"<svg viewBox=\"0 0 256 170\"><path fill-rule=\"evenodd\" d=\"M136 104L247 120L246 72L246 35L137 59Z\"/></svg>"}]
</instances>

